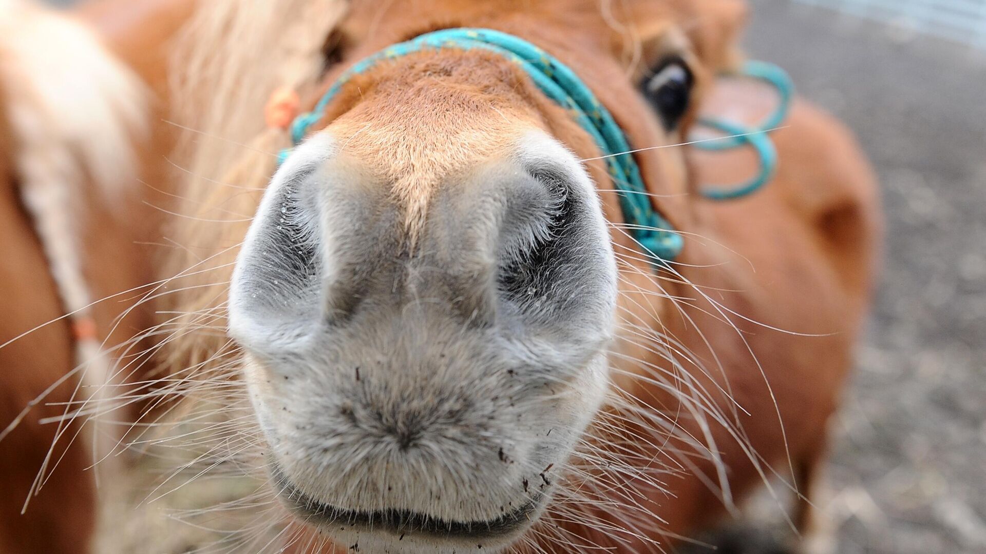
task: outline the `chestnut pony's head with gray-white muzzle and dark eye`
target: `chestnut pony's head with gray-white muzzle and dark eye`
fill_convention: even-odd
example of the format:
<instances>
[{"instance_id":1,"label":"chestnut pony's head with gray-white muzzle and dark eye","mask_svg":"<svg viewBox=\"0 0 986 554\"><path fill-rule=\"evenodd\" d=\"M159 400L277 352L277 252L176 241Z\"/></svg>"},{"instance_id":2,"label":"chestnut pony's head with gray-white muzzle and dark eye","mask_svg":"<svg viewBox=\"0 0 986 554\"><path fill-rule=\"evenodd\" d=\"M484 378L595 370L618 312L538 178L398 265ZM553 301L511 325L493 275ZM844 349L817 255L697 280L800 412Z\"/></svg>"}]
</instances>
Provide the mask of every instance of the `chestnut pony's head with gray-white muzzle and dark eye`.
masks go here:
<instances>
[{"instance_id":1,"label":"chestnut pony's head with gray-white muzzle and dark eye","mask_svg":"<svg viewBox=\"0 0 986 554\"><path fill-rule=\"evenodd\" d=\"M703 35L716 12L687 3L367 4L339 71L434 29L497 29L571 67L637 148L679 141L726 58ZM502 548L586 444L618 322L660 315L660 260L619 224L590 132L500 53L382 60L319 115L263 194L229 299L275 487L340 544ZM635 158L652 208L684 221L682 154Z\"/></svg>"}]
</instances>

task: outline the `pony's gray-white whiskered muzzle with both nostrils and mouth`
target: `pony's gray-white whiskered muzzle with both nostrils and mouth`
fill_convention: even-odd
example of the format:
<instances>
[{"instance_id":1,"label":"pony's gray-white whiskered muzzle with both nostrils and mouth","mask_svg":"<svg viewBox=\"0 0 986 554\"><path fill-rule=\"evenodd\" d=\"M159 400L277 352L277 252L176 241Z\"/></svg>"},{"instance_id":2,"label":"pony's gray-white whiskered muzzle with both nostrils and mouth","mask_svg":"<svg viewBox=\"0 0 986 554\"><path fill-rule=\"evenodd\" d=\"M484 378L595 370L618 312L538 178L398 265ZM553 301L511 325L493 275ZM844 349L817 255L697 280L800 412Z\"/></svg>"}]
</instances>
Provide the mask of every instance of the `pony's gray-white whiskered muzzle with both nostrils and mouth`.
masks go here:
<instances>
[{"instance_id":1,"label":"pony's gray-white whiskered muzzle with both nostrils and mouth","mask_svg":"<svg viewBox=\"0 0 986 554\"><path fill-rule=\"evenodd\" d=\"M405 211L339 144L321 133L275 175L232 284L275 487L340 544L506 546L607 386L616 277L595 190L526 131L436 187L410 247ZM543 267L513 275L531 256Z\"/></svg>"}]
</instances>

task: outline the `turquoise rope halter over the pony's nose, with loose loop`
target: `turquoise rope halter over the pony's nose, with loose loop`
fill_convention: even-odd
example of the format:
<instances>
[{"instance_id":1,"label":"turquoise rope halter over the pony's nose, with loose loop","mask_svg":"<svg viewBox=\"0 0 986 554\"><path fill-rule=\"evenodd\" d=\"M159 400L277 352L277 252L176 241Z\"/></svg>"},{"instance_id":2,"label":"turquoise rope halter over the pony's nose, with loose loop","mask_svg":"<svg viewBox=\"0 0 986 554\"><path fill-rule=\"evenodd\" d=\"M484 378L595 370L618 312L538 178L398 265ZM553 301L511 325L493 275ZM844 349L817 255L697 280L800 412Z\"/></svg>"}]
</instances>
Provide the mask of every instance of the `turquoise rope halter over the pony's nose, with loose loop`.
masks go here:
<instances>
[{"instance_id":1,"label":"turquoise rope halter over the pony's nose, with loose loop","mask_svg":"<svg viewBox=\"0 0 986 554\"><path fill-rule=\"evenodd\" d=\"M295 118L291 124L291 138L297 146L306 136L310 127L324 116L325 107L339 93L342 87L355 75L366 72L378 63L427 49L457 48L459 50L486 50L497 53L520 66L533 80L540 91L556 104L564 107L583 129L596 141L613 184L619 191L620 207L632 237L640 243L645 252L657 258L656 264L673 260L683 245L681 235L674 231L669 222L655 211L650 194L640 175L640 169L630 154L632 150L623 130L609 111L596 99L585 83L567 66L544 50L527 40L488 29L446 29L420 35L406 42L388 46L343 73L328 91L322 95L315 108ZM779 71L779 70L778 70ZM781 88L778 87L781 91ZM783 91L782 91L783 93ZM785 113L771 118L783 120ZM770 121L768 121L770 122ZM732 135L751 132L760 139L729 137L735 140L732 148L751 144L760 153L762 163L758 182L746 184L741 190L727 191L723 198L739 197L752 192L769 180L776 165L776 154L764 129L750 130L739 124L723 121L705 122L706 125L723 130ZM741 129L740 129L741 127ZM740 132L735 132L736 130ZM753 135L747 135L753 136ZM702 144L711 144L708 142ZM764 148L764 144L769 148ZM282 160L289 151L282 152ZM765 155L768 154L768 155ZM717 197L718 193L708 194Z\"/></svg>"}]
</instances>

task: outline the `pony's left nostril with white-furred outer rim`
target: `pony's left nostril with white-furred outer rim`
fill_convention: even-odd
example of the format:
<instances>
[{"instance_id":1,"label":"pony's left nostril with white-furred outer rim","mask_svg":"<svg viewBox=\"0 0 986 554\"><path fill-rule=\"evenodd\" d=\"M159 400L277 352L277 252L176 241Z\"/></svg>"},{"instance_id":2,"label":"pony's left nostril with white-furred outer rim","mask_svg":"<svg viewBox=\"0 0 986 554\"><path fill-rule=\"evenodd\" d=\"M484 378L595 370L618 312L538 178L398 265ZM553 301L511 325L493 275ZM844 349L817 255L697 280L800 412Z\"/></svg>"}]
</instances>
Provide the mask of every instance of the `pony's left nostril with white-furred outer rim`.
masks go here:
<instances>
[{"instance_id":1,"label":"pony's left nostril with white-furred outer rim","mask_svg":"<svg viewBox=\"0 0 986 554\"><path fill-rule=\"evenodd\" d=\"M389 246L374 234L388 222L374 219L376 199L340 185L347 172L334 165L337 156L330 136L313 137L264 193L230 291L230 330L245 345L295 349L344 322L365 298L363 261Z\"/></svg>"}]
</instances>

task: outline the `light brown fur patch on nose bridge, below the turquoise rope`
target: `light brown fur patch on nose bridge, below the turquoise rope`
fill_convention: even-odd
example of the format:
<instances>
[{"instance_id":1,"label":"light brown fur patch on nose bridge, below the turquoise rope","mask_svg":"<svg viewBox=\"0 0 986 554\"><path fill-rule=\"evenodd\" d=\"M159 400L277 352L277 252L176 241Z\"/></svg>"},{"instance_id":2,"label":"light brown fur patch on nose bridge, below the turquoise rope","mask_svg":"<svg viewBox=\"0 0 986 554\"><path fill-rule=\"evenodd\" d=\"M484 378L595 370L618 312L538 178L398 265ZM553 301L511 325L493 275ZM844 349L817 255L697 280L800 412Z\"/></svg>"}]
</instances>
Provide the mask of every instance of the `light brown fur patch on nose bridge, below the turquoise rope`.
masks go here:
<instances>
[{"instance_id":1,"label":"light brown fur patch on nose bridge, below the turquoise rope","mask_svg":"<svg viewBox=\"0 0 986 554\"><path fill-rule=\"evenodd\" d=\"M344 152L393 183L413 243L441 178L493 159L534 124L534 114L521 107L534 98L526 85L495 54L409 56L360 76L334 105L342 115L327 117ZM413 118L403 115L410 104L417 106Z\"/></svg>"}]
</instances>

